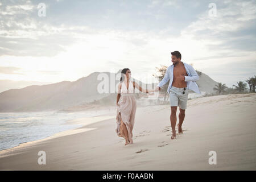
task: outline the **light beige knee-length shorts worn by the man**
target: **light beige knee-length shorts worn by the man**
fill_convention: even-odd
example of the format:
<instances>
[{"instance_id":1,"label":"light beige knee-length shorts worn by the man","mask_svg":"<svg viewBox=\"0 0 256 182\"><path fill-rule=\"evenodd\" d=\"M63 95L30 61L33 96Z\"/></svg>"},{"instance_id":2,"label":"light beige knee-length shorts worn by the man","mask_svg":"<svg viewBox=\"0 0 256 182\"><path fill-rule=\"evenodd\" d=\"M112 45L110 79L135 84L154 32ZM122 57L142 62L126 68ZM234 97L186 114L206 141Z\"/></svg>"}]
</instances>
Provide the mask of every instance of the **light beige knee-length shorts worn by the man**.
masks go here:
<instances>
[{"instance_id":1,"label":"light beige knee-length shorts worn by the man","mask_svg":"<svg viewBox=\"0 0 256 182\"><path fill-rule=\"evenodd\" d=\"M183 94L184 92L184 94ZM188 88L177 88L172 86L170 89L170 105L179 106L180 109L187 109Z\"/></svg>"}]
</instances>

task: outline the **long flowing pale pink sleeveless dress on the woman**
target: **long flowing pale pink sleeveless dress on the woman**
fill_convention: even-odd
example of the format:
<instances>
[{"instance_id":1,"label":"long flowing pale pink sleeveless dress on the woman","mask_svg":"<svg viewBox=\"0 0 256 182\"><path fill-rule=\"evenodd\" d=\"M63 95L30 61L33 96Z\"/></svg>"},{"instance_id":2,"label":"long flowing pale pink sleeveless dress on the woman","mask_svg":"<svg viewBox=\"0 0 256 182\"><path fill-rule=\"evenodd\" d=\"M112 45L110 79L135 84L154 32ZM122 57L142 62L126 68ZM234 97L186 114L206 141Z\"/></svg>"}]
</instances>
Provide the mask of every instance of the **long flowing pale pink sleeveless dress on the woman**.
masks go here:
<instances>
[{"instance_id":1,"label":"long flowing pale pink sleeveless dress on the woman","mask_svg":"<svg viewBox=\"0 0 256 182\"><path fill-rule=\"evenodd\" d=\"M133 82L129 81L129 88L125 85L125 82L121 82L121 97L119 98L117 107L117 135L119 137L125 138L123 135L123 129L126 126L128 131L128 139L131 142L133 138L133 126L136 113L136 99L135 99L135 89L133 87Z\"/></svg>"}]
</instances>

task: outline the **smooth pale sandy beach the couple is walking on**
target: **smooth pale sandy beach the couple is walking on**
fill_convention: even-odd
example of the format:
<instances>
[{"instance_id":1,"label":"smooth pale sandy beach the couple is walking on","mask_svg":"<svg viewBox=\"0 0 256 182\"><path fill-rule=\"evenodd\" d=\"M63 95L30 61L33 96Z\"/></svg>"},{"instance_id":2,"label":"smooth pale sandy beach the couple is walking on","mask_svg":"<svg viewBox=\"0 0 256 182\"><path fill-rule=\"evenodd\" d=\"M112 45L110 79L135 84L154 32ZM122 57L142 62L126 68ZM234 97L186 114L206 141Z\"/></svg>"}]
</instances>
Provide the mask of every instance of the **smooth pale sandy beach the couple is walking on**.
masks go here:
<instances>
[{"instance_id":1,"label":"smooth pale sandy beach the couple is walking on","mask_svg":"<svg viewBox=\"0 0 256 182\"><path fill-rule=\"evenodd\" d=\"M184 133L171 140L170 106L138 107L134 144L115 133L115 110L79 129L0 151L1 170L255 170L256 94L188 101ZM179 109L177 109L177 115ZM178 119L178 118L177 118ZM177 121L178 122L178 121ZM38 164L38 152L46 164ZM210 165L209 151L217 164Z\"/></svg>"}]
</instances>

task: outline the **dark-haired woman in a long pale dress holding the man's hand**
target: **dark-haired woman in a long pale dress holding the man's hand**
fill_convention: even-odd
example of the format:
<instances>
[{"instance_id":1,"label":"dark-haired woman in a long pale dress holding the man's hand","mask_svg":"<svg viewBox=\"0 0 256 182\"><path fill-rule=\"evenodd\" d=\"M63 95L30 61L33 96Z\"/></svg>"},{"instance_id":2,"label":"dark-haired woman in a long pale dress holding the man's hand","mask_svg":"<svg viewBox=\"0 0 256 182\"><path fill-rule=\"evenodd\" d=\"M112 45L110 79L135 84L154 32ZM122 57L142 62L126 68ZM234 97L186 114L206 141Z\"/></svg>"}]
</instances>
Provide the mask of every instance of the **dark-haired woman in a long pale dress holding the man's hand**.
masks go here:
<instances>
[{"instance_id":1,"label":"dark-haired woman in a long pale dress holding the man's hand","mask_svg":"<svg viewBox=\"0 0 256 182\"><path fill-rule=\"evenodd\" d=\"M137 108L135 100L135 88L141 92L154 92L154 90L143 89L135 81L131 81L131 71L125 68L121 72L120 83L117 94L117 135L125 138L125 145L133 143L133 126Z\"/></svg>"}]
</instances>

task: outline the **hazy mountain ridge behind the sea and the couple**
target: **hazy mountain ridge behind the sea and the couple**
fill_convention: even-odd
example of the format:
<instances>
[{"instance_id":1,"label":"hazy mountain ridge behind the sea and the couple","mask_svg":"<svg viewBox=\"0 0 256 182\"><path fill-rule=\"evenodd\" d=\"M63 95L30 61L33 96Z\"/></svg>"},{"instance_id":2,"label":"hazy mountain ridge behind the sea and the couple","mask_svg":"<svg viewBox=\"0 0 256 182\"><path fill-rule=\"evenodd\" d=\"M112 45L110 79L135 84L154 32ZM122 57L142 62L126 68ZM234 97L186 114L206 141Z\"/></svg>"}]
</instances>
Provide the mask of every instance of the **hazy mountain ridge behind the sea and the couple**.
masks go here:
<instances>
[{"instance_id":1,"label":"hazy mountain ridge behind the sea and the couple","mask_svg":"<svg viewBox=\"0 0 256 182\"><path fill-rule=\"evenodd\" d=\"M110 93L100 94L97 92L97 86L101 82L101 80L97 80L98 74L105 73L110 76L110 74L116 75L119 72L93 72L76 81L60 81L6 90L0 93L0 112L65 110L72 106L101 100L109 96ZM119 80L115 80L115 85L118 82ZM217 82L201 72L197 84L201 91L213 93L213 87Z\"/></svg>"}]
</instances>

